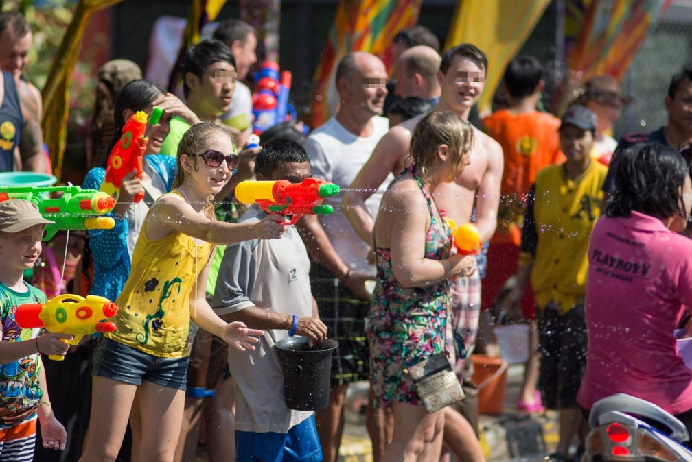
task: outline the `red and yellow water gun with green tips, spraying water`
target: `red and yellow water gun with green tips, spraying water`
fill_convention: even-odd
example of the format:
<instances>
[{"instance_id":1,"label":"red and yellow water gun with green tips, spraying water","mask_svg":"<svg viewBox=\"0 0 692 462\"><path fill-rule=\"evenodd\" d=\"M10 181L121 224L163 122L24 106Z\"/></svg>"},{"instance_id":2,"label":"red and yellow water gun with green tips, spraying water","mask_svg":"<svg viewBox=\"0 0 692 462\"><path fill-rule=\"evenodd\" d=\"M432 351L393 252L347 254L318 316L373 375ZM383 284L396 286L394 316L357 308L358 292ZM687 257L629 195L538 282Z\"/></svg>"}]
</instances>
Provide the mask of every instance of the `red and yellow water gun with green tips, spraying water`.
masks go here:
<instances>
[{"instance_id":1,"label":"red and yellow water gun with green tips, spraying water","mask_svg":"<svg viewBox=\"0 0 692 462\"><path fill-rule=\"evenodd\" d=\"M270 213L293 215L295 224L301 215L329 215L331 205L318 202L339 193L339 187L319 178L309 177L295 184L288 180L244 181L235 186L235 197L244 204L259 204Z\"/></svg>"}]
</instances>

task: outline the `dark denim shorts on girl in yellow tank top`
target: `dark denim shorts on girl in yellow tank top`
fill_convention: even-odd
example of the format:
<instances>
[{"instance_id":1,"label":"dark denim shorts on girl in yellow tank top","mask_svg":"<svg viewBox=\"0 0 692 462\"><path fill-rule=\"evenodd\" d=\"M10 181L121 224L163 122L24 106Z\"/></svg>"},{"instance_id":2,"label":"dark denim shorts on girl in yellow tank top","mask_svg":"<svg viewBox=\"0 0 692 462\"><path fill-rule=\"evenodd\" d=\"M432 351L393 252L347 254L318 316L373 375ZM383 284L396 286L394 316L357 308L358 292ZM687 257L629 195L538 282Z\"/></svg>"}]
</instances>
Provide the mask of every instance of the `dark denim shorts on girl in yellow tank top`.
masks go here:
<instances>
[{"instance_id":1,"label":"dark denim shorts on girl in yellow tank top","mask_svg":"<svg viewBox=\"0 0 692 462\"><path fill-rule=\"evenodd\" d=\"M162 387L185 389L188 356L161 358L101 336L93 353L91 376L142 385L149 381Z\"/></svg>"}]
</instances>

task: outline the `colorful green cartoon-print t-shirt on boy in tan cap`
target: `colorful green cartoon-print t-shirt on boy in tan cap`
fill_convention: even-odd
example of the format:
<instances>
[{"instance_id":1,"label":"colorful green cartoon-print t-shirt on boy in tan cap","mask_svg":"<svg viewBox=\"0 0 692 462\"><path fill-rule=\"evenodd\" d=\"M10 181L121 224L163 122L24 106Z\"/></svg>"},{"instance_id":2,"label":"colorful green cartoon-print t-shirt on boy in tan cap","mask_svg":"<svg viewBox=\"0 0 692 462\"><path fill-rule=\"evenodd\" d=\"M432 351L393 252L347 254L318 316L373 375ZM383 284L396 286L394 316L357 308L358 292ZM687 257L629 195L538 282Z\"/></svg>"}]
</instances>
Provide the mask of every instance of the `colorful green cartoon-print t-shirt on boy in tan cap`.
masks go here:
<instances>
[{"instance_id":1,"label":"colorful green cartoon-print t-shirt on boy in tan cap","mask_svg":"<svg viewBox=\"0 0 692 462\"><path fill-rule=\"evenodd\" d=\"M26 282L24 284L26 292L19 293L0 283L3 342L31 340L39 334L39 329L22 329L15 323L15 311L19 305L46 301L42 291ZM0 427L24 421L36 412L43 395L39 388L40 367L38 354L0 365Z\"/></svg>"}]
</instances>

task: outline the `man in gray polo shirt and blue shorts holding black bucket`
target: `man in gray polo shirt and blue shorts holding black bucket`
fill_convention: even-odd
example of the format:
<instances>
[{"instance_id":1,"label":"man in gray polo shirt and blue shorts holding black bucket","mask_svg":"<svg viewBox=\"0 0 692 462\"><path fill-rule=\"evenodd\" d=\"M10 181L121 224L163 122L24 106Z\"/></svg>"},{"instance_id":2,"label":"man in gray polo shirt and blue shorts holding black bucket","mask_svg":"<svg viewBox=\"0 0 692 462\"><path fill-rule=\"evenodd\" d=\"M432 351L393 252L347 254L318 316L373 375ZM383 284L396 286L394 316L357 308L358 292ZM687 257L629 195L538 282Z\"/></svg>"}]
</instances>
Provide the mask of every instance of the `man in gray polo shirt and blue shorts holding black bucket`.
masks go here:
<instances>
[{"instance_id":1,"label":"man in gray polo shirt and blue shorts holding black bucket","mask_svg":"<svg viewBox=\"0 0 692 462\"><path fill-rule=\"evenodd\" d=\"M255 175L257 180L300 183L310 176L309 159L300 144L275 139L257 155ZM256 222L265 215L255 204L239 223ZM281 239L226 247L212 307L228 322L242 320L264 329L255 351L242 355L228 351L235 379L239 461L274 461L289 454L290 460L322 460L313 412L290 410L284 403L284 380L274 347L289 335L318 342L327 337L310 291L309 271L307 251L293 226L286 226Z\"/></svg>"}]
</instances>

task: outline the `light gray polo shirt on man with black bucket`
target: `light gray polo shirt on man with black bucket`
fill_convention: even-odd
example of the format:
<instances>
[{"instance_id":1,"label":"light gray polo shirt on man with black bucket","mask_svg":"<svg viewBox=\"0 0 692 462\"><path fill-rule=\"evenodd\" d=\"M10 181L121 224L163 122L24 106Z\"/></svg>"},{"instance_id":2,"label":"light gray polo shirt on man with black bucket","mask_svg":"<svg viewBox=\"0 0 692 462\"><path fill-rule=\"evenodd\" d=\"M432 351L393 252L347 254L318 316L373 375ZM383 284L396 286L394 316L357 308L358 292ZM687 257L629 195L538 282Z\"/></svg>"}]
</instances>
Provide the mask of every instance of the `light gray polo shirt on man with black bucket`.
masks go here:
<instances>
[{"instance_id":1,"label":"light gray polo shirt on man with black bucket","mask_svg":"<svg viewBox=\"0 0 692 462\"><path fill-rule=\"evenodd\" d=\"M257 222L265 216L253 205L239 222ZM309 272L307 251L295 227L286 227L280 239L229 245L212 307L219 315L257 306L300 318L312 316ZM290 410L284 403L284 378L274 345L288 335L284 329L271 329L264 331L255 351L228 349L237 430L286 433L312 415Z\"/></svg>"}]
</instances>

